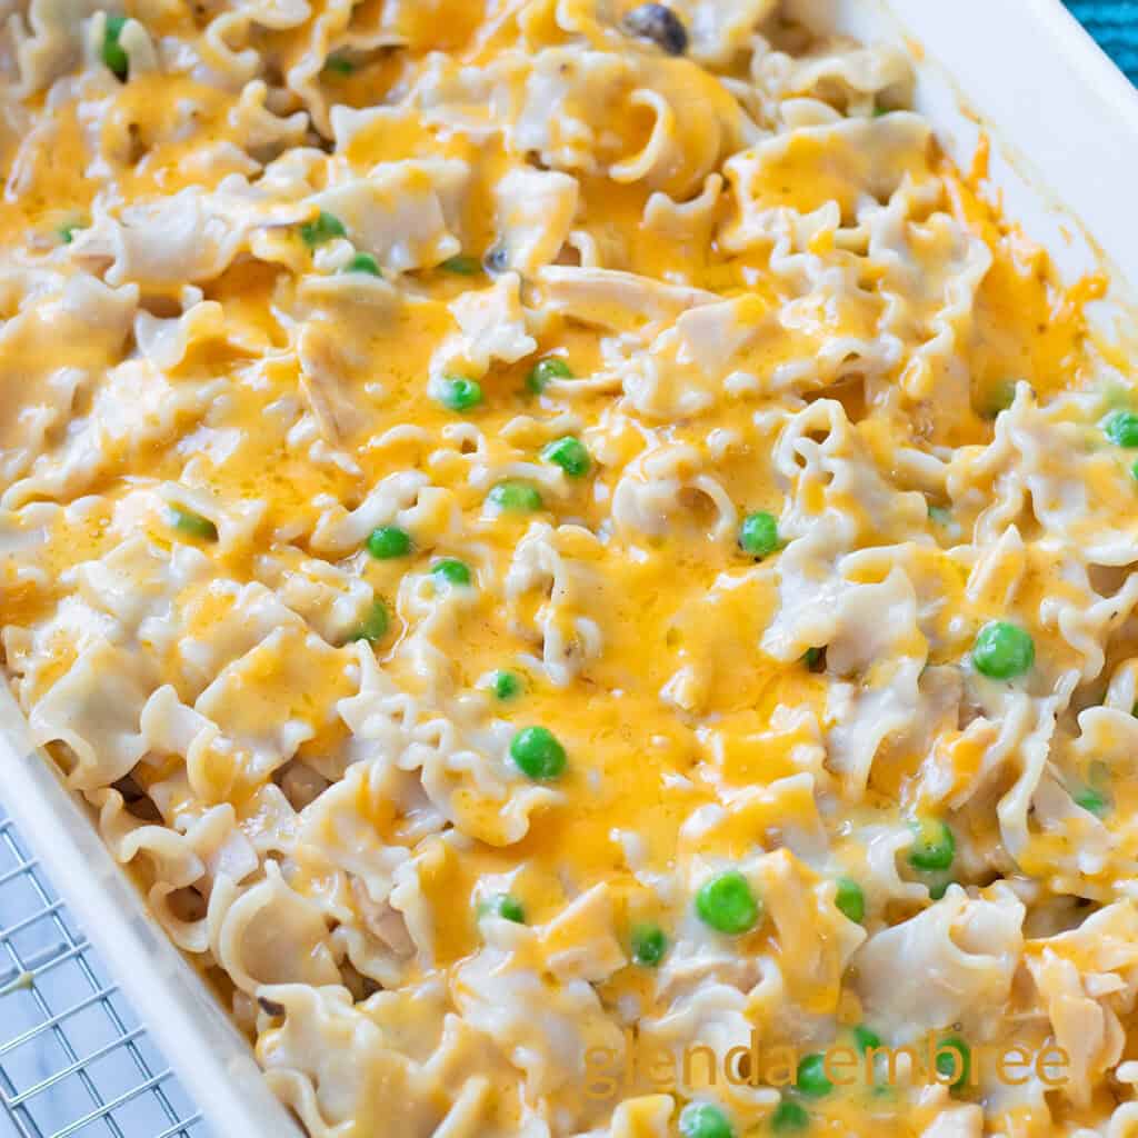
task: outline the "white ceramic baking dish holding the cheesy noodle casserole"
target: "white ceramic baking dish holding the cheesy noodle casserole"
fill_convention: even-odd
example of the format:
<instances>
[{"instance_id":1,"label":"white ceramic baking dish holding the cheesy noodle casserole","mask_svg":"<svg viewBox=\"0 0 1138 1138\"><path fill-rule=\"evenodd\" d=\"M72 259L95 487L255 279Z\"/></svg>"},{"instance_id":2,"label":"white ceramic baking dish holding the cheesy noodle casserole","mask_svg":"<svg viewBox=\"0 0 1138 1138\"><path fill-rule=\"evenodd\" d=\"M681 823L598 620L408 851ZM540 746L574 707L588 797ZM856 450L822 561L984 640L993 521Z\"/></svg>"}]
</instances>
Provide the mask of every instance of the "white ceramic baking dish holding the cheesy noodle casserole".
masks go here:
<instances>
[{"instance_id":1,"label":"white ceramic baking dish holding the cheesy noodle casserole","mask_svg":"<svg viewBox=\"0 0 1138 1138\"><path fill-rule=\"evenodd\" d=\"M954 157L966 165L984 130L1007 214L1067 273L1106 267L1118 296L1138 292L1138 93L1059 0L791 2L810 23L907 44L922 60L918 106ZM6 687L0 770L5 805L216 1133L298 1136L244 1037L31 745Z\"/></svg>"}]
</instances>

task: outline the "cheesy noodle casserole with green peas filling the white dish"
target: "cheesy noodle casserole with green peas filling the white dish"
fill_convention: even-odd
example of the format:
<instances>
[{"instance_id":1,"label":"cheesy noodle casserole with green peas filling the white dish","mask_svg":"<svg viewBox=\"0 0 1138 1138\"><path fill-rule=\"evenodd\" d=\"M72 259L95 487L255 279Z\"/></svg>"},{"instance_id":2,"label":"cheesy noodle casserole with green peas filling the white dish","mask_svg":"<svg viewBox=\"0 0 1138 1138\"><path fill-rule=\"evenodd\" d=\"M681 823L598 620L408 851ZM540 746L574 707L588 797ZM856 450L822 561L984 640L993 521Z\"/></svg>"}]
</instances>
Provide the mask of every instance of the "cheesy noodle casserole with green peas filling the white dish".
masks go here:
<instances>
[{"instance_id":1,"label":"cheesy noodle casserole with green peas filling the white dish","mask_svg":"<svg viewBox=\"0 0 1138 1138\"><path fill-rule=\"evenodd\" d=\"M313 1138L1138 1130L1133 376L904 51L0 8L6 675Z\"/></svg>"}]
</instances>

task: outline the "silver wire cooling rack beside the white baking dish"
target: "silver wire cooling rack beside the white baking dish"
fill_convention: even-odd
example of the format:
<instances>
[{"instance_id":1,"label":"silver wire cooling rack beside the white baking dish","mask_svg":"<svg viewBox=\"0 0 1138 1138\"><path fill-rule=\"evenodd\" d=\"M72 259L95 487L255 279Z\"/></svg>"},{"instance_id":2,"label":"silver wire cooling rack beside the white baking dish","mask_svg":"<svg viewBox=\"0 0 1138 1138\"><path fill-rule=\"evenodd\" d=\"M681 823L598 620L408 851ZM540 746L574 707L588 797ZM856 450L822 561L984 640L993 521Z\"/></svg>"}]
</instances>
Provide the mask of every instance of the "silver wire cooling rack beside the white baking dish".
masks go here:
<instances>
[{"instance_id":1,"label":"silver wire cooling rack beside the white baking dish","mask_svg":"<svg viewBox=\"0 0 1138 1138\"><path fill-rule=\"evenodd\" d=\"M209 1138L0 808L0 1138Z\"/></svg>"}]
</instances>

